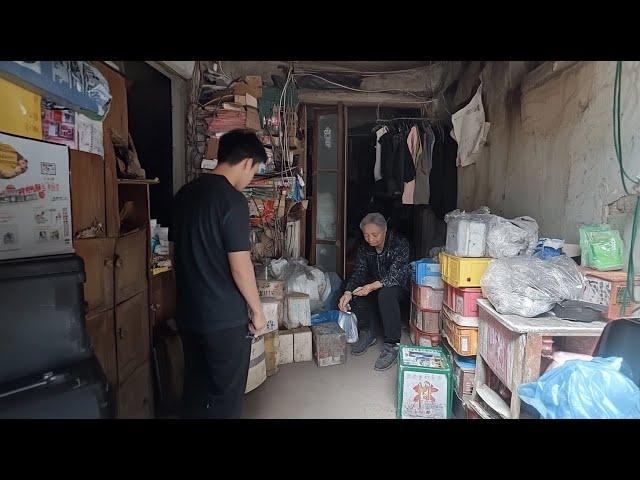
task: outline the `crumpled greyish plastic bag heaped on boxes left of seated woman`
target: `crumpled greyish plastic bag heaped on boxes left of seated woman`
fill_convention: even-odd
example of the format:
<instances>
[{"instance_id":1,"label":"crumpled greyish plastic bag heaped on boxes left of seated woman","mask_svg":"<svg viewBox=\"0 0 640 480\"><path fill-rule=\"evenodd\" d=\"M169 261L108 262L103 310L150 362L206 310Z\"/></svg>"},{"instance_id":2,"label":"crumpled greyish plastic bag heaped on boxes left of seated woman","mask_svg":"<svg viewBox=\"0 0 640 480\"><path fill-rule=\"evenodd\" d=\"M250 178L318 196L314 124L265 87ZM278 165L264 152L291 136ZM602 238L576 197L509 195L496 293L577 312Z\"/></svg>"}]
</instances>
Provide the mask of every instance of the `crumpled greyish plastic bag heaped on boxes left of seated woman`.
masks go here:
<instances>
[{"instance_id":1,"label":"crumpled greyish plastic bag heaped on boxes left of seated woman","mask_svg":"<svg viewBox=\"0 0 640 480\"><path fill-rule=\"evenodd\" d=\"M331 282L325 272L309 266L304 258L272 260L269 269L275 279L284 282L287 293L309 295L311 313L322 311L331 294Z\"/></svg>"}]
</instances>

